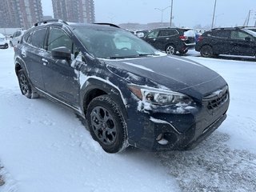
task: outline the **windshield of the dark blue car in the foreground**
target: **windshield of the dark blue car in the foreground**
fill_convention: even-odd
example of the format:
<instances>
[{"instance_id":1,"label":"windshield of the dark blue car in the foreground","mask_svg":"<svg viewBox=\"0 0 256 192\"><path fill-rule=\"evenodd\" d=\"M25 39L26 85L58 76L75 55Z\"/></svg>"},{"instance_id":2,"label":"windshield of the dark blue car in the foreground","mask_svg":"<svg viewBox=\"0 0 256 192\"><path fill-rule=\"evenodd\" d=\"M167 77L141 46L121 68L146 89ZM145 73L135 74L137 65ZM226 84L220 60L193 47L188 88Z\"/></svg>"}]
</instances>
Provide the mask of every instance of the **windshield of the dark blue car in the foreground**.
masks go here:
<instances>
[{"instance_id":1,"label":"windshield of the dark blue car in the foreground","mask_svg":"<svg viewBox=\"0 0 256 192\"><path fill-rule=\"evenodd\" d=\"M118 28L77 27L74 34L96 58L136 58L159 54L134 34Z\"/></svg>"}]
</instances>

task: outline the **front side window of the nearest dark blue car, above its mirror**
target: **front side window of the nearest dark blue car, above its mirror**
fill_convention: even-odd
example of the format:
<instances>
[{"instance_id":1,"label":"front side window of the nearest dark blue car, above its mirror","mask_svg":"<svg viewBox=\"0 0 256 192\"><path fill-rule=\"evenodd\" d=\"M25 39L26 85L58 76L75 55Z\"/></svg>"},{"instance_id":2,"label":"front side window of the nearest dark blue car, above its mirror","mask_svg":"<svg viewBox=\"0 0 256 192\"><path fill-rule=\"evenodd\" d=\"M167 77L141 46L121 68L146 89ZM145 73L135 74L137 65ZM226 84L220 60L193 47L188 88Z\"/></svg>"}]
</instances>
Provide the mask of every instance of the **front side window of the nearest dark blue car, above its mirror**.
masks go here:
<instances>
[{"instance_id":1,"label":"front side window of the nearest dark blue car, above its mirror","mask_svg":"<svg viewBox=\"0 0 256 192\"><path fill-rule=\"evenodd\" d=\"M47 42L47 50L51 51L59 46L66 46L72 52L72 40L71 38L61 29L50 28L50 34Z\"/></svg>"}]
</instances>

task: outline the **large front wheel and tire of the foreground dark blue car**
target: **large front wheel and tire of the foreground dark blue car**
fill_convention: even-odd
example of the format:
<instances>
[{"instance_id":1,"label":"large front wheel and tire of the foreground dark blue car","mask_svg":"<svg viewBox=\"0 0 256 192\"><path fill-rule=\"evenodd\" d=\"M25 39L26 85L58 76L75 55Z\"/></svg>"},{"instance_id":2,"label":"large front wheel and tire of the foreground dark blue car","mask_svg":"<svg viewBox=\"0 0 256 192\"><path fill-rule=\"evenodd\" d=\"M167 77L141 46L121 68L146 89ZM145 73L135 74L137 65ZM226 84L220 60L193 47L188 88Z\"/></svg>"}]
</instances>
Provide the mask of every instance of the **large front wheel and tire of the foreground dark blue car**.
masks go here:
<instances>
[{"instance_id":1,"label":"large front wheel and tire of the foreground dark blue car","mask_svg":"<svg viewBox=\"0 0 256 192\"><path fill-rule=\"evenodd\" d=\"M127 146L126 119L114 98L94 98L86 113L90 134L107 153L117 153Z\"/></svg>"}]
</instances>

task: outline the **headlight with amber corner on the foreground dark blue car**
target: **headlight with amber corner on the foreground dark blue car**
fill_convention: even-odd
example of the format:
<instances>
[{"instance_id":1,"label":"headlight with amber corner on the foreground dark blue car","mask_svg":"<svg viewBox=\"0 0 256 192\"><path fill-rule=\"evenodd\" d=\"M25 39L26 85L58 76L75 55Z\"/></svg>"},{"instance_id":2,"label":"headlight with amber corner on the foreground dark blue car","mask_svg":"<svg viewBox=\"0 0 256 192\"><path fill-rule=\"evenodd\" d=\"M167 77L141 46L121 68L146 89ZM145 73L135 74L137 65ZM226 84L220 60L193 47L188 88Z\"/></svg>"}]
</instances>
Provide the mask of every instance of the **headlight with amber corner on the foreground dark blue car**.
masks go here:
<instances>
[{"instance_id":1,"label":"headlight with amber corner on the foreground dark blue car","mask_svg":"<svg viewBox=\"0 0 256 192\"><path fill-rule=\"evenodd\" d=\"M192 99L186 94L181 94L171 90L161 90L149 86L128 86L140 100L150 102L154 105L189 105Z\"/></svg>"}]
</instances>

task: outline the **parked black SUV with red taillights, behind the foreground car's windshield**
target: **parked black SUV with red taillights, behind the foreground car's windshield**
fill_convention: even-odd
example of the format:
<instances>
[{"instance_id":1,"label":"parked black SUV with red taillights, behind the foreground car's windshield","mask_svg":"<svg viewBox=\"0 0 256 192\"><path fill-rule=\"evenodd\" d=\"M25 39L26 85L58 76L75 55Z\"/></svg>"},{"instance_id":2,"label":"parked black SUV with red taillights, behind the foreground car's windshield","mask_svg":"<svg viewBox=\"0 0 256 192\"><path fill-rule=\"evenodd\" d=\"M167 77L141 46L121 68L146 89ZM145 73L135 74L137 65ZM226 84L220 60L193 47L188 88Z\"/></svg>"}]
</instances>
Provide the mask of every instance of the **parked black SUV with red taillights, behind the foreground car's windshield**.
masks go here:
<instances>
[{"instance_id":1,"label":"parked black SUV with red taillights, behind the foreground car's windshield","mask_svg":"<svg viewBox=\"0 0 256 192\"><path fill-rule=\"evenodd\" d=\"M181 28L161 28L151 30L143 40L150 43L158 50L166 51L167 54L186 54L190 49L194 49L194 36L186 36L186 31L190 29Z\"/></svg>"}]
</instances>

